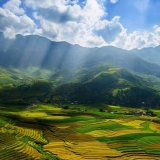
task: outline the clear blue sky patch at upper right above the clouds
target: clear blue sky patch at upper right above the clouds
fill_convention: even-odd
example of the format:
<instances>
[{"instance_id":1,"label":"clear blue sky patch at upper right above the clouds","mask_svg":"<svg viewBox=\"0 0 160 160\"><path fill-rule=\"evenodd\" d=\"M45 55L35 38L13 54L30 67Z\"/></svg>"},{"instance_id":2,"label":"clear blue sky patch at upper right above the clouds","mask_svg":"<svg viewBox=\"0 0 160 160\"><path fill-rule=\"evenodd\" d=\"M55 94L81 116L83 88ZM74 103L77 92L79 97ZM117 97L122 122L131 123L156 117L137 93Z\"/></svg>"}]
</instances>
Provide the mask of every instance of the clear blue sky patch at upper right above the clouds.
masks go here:
<instances>
[{"instance_id":1,"label":"clear blue sky patch at upper right above the clouds","mask_svg":"<svg viewBox=\"0 0 160 160\"><path fill-rule=\"evenodd\" d=\"M113 4L106 1L108 19L120 16L120 22L129 32L134 30L150 30L160 25L159 0L119 0Z\"/></svg>"}]
</instances>

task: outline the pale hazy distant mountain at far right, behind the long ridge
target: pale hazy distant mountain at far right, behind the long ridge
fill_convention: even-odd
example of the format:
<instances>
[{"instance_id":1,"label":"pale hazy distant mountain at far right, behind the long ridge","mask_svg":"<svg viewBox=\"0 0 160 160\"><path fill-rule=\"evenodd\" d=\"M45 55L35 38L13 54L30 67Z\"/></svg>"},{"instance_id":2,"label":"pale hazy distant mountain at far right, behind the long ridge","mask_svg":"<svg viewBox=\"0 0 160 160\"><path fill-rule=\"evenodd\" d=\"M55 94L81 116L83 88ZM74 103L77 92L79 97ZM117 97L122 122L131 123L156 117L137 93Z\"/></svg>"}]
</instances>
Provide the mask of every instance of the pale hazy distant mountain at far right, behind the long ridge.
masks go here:
<instances>
[{"instance_id":1,"label":"pale hazy distant mountain at far right, behind the long ridge","mask_svg":"<svg viewBox=\"0 0 160 160\"><path fill-rule=\"evenodd\" d=\"M131 54L135 54L136 56L148 61L150 63L156 63L160 65L160 46L155 48L142 48L140 50L133 49L130 51Z\"/></svg>"}]
</instances>

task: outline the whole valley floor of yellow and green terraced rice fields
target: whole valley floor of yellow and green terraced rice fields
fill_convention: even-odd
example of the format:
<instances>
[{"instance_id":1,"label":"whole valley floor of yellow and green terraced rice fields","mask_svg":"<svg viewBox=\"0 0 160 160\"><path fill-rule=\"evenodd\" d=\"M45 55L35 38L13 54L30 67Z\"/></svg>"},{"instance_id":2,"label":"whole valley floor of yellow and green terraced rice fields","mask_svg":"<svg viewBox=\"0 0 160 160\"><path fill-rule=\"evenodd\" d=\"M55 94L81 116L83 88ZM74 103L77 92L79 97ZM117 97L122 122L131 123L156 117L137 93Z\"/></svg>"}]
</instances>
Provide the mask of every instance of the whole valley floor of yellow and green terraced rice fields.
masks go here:
<instances>
[{"instance_id":1,"label":"whole valley floor of yellow and green terraced rice fields","mask_svg":"<svg viewBox=\"0 0 160 160\"><path fill-rule=\"evenodd\" d=\"M101 117L89 109L41 104L15 111L4 108L1 160L160 160L158 117Z\"/></svg>"}]
</instances>

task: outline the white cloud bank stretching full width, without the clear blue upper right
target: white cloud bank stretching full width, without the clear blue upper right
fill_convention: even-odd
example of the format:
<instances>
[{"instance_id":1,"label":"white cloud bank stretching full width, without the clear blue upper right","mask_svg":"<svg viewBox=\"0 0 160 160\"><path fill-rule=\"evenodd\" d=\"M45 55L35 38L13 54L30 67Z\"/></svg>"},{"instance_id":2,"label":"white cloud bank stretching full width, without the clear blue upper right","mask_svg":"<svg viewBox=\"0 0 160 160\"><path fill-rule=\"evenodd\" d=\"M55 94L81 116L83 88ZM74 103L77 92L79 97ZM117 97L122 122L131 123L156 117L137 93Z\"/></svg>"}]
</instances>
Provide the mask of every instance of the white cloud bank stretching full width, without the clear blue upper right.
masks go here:
<instances>
[{"instance_id":1,"label":"white cloud bank stretching full width, without the clear blue upper right","mask_svg":"<svg viewBox=\"0 0 160 160\"><path fill-rule=\"evenodd\" d=\"M118 0L110 2L116 3ZM80 0L24 0L25 7L33 10L37 25L26 15L21 0L7 1L0 8L0 31L7 38L15 38L16 34L38 34L54 41L86 47L113 45L132 49L160 44L160 26L153 26L150 32L127 33L119 16L105 19L107 9L103 6L104 0L79 3ZM145 4L147 6L148 3Z\"/></svg>"}]
</instances>

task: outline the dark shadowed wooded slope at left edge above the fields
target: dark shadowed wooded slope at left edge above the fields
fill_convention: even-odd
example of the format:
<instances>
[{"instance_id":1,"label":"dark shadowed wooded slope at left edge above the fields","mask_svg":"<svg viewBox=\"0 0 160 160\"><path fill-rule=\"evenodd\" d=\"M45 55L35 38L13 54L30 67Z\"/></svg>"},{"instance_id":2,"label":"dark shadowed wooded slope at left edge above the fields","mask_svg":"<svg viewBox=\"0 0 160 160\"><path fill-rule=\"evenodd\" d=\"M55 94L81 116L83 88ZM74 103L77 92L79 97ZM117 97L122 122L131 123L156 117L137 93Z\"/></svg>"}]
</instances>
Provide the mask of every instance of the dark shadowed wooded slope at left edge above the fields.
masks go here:
<instances>
[{"instance_id":1,"label":"dark shadowed wooded slope at left edge above the fields","mask_svg":"<svg viewBox=\"0 0 160 160\"><path fill-rule=\"evenodd\" d=\"M27 105L35 102L45 102L51 93L52 86L47 82L35 82L18 87L0 89L0 103L8 105ZM50 99L50 97L49 97ZM49 101L47 99L47 101Z\"/></svg>"}]
</instances>

